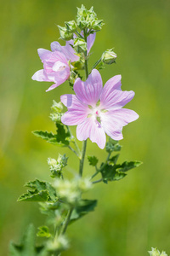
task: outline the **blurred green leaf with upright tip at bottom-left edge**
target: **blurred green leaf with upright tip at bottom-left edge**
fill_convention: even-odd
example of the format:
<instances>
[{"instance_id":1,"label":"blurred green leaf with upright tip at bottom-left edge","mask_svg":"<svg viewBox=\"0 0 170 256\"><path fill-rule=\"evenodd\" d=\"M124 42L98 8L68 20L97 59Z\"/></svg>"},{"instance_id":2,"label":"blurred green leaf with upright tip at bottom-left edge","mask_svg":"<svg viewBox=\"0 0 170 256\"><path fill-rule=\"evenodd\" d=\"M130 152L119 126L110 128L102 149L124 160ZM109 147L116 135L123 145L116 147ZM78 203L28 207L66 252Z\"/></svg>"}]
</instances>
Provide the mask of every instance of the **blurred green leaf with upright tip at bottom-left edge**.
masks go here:
<instances>
[{"instance_id":1,"label":"blurred green leaf with upright tip at bottom-left edge","mask_svg":"<svg viewBox=\"0 0 170 256\"><path fill-rule=\"evenodd\" d=\"M35 237L35 228L31 224L26 230L20 245L16 245L14 242L10 243L9 256L48 256L45 247L36 247Z\"/></svg>"}]
</instances>

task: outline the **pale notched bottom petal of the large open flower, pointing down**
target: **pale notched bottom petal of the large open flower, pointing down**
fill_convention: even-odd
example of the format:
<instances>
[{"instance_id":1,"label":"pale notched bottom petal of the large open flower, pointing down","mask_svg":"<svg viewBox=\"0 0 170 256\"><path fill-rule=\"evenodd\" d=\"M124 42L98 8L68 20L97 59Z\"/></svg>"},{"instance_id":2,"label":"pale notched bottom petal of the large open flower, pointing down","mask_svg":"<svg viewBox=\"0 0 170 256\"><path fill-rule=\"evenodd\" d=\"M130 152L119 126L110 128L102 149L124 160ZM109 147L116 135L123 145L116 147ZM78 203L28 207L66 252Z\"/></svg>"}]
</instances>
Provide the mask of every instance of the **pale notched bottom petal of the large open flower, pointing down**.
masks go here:
<instances>
[{"instance_id":1,"label":"pale notched bottom petal of the large open flower, pointing down","mask_svg":"<svg viewBox=\"0 0 170 256\"><path fill-rule=\"evenodd\" d=\"M105 148L105 131L95 119L87 118L85 121L77 125L77 139L82 141L90 138L92 143L97 143L99 148Z\"/></svg>"}]
</instances>

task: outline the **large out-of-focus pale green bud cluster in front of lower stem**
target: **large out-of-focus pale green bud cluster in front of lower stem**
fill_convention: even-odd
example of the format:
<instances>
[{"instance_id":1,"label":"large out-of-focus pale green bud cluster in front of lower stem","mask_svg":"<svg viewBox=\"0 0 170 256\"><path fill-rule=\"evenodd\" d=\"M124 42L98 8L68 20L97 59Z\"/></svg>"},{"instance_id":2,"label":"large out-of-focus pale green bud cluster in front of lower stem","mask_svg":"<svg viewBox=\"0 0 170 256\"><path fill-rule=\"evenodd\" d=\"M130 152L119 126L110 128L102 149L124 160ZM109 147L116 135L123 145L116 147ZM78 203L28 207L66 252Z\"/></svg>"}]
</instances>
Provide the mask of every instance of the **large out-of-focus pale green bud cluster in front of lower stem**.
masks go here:
<instances>
[{"instance_id":1,"label":"large out-of-focus pale green bud cluster in front of lower stem","mask_svg":"<svg viewBox=\"0 0 170 256\"><path fill-rule=\"evenodd\" d=\"M71 205L77 205L83 192L92 188L92 183L88 178L75 178L73 180L57 179L54 188L59 198Z\"/></svg>"}]
</instances>

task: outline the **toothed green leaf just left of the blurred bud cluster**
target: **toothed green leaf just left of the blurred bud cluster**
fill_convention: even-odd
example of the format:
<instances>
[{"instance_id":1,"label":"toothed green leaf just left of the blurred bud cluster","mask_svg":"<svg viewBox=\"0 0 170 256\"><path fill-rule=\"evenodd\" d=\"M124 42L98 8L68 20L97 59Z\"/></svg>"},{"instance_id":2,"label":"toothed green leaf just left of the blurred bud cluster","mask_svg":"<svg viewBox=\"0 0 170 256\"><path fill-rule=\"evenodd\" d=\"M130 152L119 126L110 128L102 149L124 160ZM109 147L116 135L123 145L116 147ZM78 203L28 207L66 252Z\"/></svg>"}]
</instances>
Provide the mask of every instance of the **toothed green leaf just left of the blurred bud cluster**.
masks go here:
<instances>
[{"instance_id":1,"label":"toothed green leaf just left of the blurred bud cluster","mask_svg":"<svg viewBox=\"0 0 170 256\"><path fill-rule=\"evenodd\" d=\"M18 201L56 201L56 192L50 183L41 182L36 179L33 182L25 185L33 190L28 190L27 193L20 195Z\"/></svg>"}]
</instances>

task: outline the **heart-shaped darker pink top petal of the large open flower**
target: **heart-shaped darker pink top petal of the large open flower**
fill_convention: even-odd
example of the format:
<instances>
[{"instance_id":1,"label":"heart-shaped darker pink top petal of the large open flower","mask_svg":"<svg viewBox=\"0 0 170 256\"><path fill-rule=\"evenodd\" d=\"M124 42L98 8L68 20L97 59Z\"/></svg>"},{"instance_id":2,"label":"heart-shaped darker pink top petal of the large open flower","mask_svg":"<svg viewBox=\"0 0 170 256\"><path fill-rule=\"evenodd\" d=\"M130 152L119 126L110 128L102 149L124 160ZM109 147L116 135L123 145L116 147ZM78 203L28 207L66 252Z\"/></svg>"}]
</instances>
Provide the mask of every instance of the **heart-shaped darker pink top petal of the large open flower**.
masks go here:
<instances>
[{"instance_id":1,"label":"heart-shaped darker pink top petal of the large open flower","mask_svg":"<svg viewBox=\"0 0 170 256\"><path fill-rule=\"evenodd\" d=\"M99 71L97 69L93 69L86 82L82 82L81 79L76 79L73 88L77 94L77 98L81 102L95 106L99 101L99 96L103 89Z\"/></svg>"}]
</instances>

